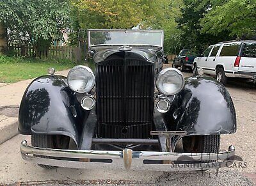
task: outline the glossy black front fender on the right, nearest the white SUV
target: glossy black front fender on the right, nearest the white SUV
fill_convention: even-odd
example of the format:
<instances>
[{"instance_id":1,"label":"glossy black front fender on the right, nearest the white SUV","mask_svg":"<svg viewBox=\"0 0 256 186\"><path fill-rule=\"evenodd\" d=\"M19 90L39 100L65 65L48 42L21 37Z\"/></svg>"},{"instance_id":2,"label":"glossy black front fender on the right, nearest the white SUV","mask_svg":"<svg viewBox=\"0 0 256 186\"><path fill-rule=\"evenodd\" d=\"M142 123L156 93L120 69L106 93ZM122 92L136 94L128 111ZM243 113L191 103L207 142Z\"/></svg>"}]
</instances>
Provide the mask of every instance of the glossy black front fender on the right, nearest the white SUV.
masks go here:
<instances>
[{"instance_id":1,"label":"glossy black front fender on the right, nearest the white SUV","mask_svg":"<svg viewBox=\"0 0 256 186\"><path fill-rule=\"evenodd\" d=\"M188 135L231 134L236 132L236 110L227 89L212 77L186 79L175 95L170 111L163 113L168 130Z\"/></svg>"}]
</instances>

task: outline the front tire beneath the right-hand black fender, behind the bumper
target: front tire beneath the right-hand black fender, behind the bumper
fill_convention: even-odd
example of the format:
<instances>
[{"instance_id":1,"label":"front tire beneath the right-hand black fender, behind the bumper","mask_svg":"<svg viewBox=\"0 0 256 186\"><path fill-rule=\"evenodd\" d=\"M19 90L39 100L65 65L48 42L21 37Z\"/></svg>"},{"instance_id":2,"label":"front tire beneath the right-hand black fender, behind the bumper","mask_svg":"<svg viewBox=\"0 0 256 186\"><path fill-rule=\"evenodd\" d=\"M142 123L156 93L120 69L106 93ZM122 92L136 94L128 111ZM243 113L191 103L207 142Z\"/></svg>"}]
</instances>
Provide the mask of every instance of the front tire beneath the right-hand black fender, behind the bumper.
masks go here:
<instances>
[{"instance_id":1,"label":"front tire beneath the right-hand black fender, behind the bumper","mask_svg":"<svg viewBox=\"0 0 256 186\"><path fill-rule=\"evenodd\" d=\"M182 137L184 152L202 153L220 150L220 135Z\"/></svg>"}]
</instances>

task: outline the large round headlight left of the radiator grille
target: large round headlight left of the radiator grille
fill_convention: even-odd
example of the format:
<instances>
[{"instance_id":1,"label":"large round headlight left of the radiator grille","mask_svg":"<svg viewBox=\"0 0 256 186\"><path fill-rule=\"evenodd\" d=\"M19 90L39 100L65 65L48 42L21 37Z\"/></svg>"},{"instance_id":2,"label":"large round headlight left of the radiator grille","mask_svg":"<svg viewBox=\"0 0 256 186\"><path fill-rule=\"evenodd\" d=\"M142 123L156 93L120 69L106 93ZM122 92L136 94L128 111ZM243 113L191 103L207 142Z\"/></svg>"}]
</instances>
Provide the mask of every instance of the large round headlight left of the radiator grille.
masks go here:
<instances>
[{"instance_id":1,"label":"large round headlight left of the radiator grille","mask_svg":"<svg viewBox=\"0 0 256 186\"><path fill-rule=\"evenodd\" d=\"M88 93L95 84L95 75L88 66L78 65L68 72L68 86L78 93Z\"/></svg>"}]
</instances>

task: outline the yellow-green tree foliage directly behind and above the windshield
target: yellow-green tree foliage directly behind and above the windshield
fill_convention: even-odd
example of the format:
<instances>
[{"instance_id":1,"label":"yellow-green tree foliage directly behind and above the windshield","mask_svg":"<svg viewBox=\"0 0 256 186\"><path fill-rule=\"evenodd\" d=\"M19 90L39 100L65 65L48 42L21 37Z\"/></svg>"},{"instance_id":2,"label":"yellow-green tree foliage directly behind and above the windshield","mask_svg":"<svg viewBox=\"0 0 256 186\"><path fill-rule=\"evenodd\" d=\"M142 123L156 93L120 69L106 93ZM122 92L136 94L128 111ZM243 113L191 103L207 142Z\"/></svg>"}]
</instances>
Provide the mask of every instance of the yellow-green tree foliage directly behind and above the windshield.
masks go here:
<instances>
[{"instance_id":1,"label":"yellow-green tree foliage directly behind and above the windshield","mask_svg":"<svg viewBox=\"0 0 256 186\"><path fill-rule=\"evenodd\" d=\"M182 0L72 0L72 4L76 30L131 29L136 26L141 29L164 29L164 49L169 53L179 40L180 30L175 20L181 15Z\"/></svg>"}]
</instances>

